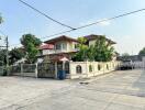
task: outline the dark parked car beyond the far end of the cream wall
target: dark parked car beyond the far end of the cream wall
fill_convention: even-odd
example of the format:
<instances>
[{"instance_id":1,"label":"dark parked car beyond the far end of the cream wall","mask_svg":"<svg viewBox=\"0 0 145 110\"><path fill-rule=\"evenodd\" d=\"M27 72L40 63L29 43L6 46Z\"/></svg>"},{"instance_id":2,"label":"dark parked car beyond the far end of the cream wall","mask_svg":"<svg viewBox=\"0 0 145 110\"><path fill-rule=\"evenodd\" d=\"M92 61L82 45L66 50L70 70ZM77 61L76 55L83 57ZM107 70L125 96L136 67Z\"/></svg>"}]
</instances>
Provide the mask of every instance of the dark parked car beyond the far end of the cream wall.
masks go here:
<instances>
[{"instance_id":1,"label":"dark parked car beyond the far end of the cream wall","mask_svg":"<svg viewBox=\"0 0 145 110\"><path fill-rule=\"evenodd\" d=\"M123 61L121 67L121 70L126 70L126 69L134 69L134 65L132 61Z\"/></svg>"}]
</instances>

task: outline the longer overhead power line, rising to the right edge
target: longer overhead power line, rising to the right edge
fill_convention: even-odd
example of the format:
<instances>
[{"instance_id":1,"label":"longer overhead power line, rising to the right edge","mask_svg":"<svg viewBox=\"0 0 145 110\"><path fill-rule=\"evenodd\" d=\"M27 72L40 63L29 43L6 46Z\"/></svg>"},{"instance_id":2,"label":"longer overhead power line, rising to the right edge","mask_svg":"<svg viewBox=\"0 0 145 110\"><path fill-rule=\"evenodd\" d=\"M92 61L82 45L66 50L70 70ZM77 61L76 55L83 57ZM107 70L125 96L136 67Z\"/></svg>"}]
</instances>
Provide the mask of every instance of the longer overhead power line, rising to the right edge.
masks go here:
<instances>
[{"instance_id":1,"label":"longer overhead power line, rising to the right edge","mask_svg":"<svg viewBox=\"0 0 145 110\"><path fill-rule=\"evenodd\" d=\"M94 25L94 24L98 24L98 23L102 23L102 22L105 22L105 21L111 21L111 20L114 20L114 19L119 19L119 18L122 18L122 16L134 14L134 13L137 13L137 12L141 12L141 11L145 11L145 9L140 9L140 10L126 12L126 13L123 13L123 14L120 14L120 15L115 15L115 16L105 19L105 20L100 20L100 21L97 21L97 22L93 22L93 23L89 23L89 24L86 24L86 25L82 25L82 26L78 26L76 29L71 29L71 30L59 32L59 33L55 33L55 34L52 34L52 35L48 35L48 36L45 36L45 37L41 37L41 38L46 38L46 37L52 37L52 36L60 35L60 34L69 33L69 32L77 31L77 30L80 30L80 29L85 29L85 28L88 28L88 26L91 26L91 25Z\"/></svg>"}]
</instances>

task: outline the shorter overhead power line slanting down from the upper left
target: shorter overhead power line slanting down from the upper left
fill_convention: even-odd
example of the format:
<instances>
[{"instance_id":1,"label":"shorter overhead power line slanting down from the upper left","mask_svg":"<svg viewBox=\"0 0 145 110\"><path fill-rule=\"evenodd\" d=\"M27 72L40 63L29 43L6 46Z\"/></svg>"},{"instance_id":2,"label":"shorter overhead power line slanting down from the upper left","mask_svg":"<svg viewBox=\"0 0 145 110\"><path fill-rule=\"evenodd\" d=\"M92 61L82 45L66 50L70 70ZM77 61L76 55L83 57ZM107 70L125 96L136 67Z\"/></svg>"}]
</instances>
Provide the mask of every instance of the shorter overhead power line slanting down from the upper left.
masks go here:
<instances>
[{"instance_id":1,"label":"shorter overhead power line slanting down from the upper left","mask_svg":"<svg viewBox=\"0 0 145 110\"><path fill-rule=\"evenodd\" d=\"M45 18L47 18L47 19L49 19L49 20L52 20L52 21L54 21L54 22L56 22L56 23L58 23L58 24L60 24L60 25L63 25L63 26L69 28L69 29L71 29L71 30L75 30L75 28L71 28L71 26L69 26L69 25L67 25L67 24L64 24L64 23L62 23L62 22L59 22L59 21L57 21L57 20L51 18L51 16L47 15L46 13L40 11L38 9L36 9L36 8L32 7L31 4L24 2L23 0L19 0L19 1L20 1L21 3L23 3L23 4L25 4L26 7L33 9L34 11L38 12L40 14L44 15Z\"/></svg>"}]
</instances>

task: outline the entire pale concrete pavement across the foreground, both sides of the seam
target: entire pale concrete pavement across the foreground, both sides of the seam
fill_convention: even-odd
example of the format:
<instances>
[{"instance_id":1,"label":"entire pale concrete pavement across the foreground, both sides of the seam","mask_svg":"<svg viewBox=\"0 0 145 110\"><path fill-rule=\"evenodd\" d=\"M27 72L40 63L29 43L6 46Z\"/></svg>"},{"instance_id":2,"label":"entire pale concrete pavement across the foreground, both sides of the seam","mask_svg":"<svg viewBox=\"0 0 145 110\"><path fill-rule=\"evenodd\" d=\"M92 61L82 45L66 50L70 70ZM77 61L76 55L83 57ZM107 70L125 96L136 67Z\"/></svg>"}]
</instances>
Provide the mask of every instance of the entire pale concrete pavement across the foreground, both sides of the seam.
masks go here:
<instances>
[{"instance_id":1,"label":"entire pale concrete pavement across the foreground, both sides of the seam","mask_svg":"<svg viewBox=\"0 0 145 110\"><path fill-rule=\"evenodd\" d=\"M14 81L14 84L19 87L9 87L14 85L9 84L13 82L10 80L0 81L0 87L1 84L3 87L9 84L3 95L5 97L11 95L7 97L10 102L14 98L27 97L30 99L19 100L16 105L2 110L145 110L144 70L113 72L105 76L86 80L89 81L88 85L79 84L78 80L15 79L18 82ZM58 87L54 87L56 85ZM16 88L20 89L15 91ZM21 91L23 94L19 97L15 92ZM38 95L41 97L37 97ZM32 96L36 96L36 98L32 99Z\"/></svg>"}]
</instances>

